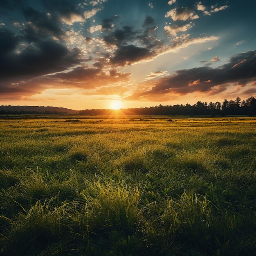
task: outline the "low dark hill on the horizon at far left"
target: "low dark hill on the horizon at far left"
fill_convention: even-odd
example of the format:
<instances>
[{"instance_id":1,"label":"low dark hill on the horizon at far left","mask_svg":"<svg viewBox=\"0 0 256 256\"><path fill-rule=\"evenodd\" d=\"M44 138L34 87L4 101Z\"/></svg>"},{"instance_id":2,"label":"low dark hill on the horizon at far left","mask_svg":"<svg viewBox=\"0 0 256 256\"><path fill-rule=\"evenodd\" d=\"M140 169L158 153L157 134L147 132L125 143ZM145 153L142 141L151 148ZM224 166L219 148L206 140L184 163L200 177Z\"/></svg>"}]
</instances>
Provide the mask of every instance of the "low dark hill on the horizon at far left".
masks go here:
<instances>
[{"instance_id":1,"label":"low dark hill on the horizon at far left","mask_svg":"<svg viewBox=\"0 0 256 256\"><path fill-rule=\"evenodd\" d=\"M0 113L20 113L20 112L36 112L36 113L53 113L53 114L76 114L79 110L59 107L37 107L37 106L0 106Z\"/></svg>"}]
</instances>

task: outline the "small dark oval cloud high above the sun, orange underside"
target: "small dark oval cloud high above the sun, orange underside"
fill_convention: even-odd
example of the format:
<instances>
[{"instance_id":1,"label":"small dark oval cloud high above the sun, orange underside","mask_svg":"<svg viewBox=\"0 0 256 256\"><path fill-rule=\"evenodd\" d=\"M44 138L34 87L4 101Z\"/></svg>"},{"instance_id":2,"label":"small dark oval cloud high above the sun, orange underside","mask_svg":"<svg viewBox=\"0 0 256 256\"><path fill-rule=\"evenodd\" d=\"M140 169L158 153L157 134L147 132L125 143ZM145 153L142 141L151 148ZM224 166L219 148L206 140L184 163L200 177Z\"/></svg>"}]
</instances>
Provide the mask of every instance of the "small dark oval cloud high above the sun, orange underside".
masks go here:
<instances>
[{"instance_id":1,"label":"small dark oval cloud high above the sun, orange underside","mask_svg":"<svg viewBox=\"0 0 256 256\"><path fill-rule=\"evenodd\" d=\"M121 46L115 52L115 56L110 58L110 62L115 65L125 66L151 57L150 50L135 45Z\"/></svg>"}]
</instances>

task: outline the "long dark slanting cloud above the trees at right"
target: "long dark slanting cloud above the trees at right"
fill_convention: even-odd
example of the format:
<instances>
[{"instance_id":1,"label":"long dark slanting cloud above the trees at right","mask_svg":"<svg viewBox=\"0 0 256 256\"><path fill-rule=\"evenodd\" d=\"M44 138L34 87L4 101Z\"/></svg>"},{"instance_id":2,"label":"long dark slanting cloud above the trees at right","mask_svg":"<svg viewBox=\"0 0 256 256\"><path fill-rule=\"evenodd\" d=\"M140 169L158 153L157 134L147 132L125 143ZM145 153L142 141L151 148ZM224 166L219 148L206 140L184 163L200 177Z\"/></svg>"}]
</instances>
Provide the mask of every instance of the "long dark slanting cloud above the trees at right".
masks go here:
<instances>
[{"instance_id":1,"label":"long dark slanting cloud above the trees at right","mask_svg":"<svg viewBox=\"0 0 256 256\"><path fill-rule=\"evenodd\" d=\"M226 90L228 83L244 86L252 81L256 81L256 51L236 54L230 58L229 63L218 68L204 66L178 70L173 76L159 79L150 90L135 93L130 98L143 98L165 93L206 92L216 94Z\"/></svg>"}]
</instances>

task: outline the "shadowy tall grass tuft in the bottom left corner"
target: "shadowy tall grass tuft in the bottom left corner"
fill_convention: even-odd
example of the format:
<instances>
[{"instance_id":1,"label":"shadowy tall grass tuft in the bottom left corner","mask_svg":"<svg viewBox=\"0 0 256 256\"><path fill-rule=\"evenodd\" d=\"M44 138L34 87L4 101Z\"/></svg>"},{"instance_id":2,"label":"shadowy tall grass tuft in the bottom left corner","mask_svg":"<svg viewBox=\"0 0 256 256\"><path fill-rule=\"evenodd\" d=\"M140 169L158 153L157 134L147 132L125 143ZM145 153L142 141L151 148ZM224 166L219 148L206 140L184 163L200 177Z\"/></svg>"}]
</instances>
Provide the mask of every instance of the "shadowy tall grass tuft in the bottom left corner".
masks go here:
<instances>
[{"instance_id":1,"label":"shadowy tall grass tuft in the bottom left corner","mask_svg":"<svg viewBox=\"0 0 256 256\"><path fill-rule=\"evenodd\" d=\"M5 247L17 255L36 254L60 241L64 224L63 207L50 206L49 202L36 202L27 211L23 209L9 220L11 232L5 236Z\"/></svg>"}]
</instances>

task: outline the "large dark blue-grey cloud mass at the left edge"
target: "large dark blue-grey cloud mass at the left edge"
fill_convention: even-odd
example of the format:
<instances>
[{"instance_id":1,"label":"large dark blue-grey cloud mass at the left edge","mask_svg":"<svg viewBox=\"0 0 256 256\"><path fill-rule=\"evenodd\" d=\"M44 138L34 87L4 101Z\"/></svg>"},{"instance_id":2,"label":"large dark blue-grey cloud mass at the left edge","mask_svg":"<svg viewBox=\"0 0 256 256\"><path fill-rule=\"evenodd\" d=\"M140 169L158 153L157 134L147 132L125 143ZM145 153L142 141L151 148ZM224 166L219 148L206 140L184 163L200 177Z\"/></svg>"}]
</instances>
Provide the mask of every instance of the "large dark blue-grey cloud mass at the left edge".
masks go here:
<instances>
[{"instance_id":1,"label":"large dark blue-grey cloud mass at the left edge","mask_svg":"<svg viewBox=\"0 0 256 256\"><path fill-rule=\"evenodd\" d=\"M10 50L10 47L7 49ZM69 50L54 40L39 41L27 45L20 53L3 53L0 58L0 76L2 79L29 79L65 70L79 62L78 49Z\"/></svg>"}]
</instances>

